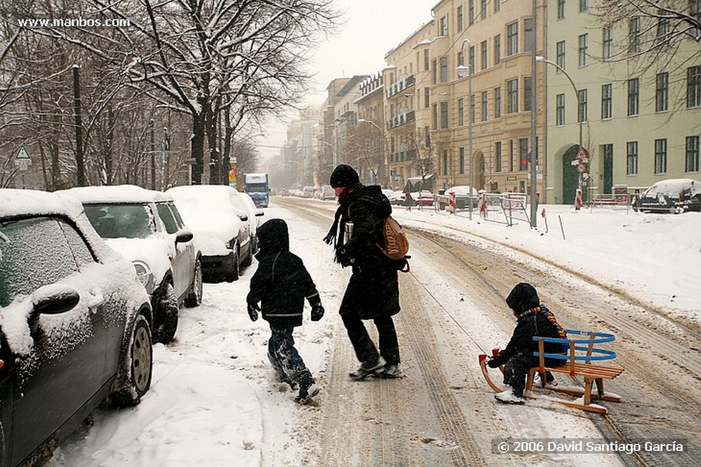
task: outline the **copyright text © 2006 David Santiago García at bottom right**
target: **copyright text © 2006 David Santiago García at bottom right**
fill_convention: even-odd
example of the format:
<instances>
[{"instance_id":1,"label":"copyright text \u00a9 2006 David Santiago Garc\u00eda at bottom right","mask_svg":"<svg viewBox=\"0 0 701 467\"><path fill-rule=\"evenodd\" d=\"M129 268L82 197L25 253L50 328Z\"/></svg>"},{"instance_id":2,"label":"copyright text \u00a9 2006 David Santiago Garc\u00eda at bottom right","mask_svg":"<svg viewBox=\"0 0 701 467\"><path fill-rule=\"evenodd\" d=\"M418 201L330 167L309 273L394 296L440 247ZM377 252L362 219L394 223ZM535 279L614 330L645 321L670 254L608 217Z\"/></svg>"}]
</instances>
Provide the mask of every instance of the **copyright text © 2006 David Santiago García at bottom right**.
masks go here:
<instances>
[{"instance_id":1,"label":"copyright text \u00a9 2006 David Santiago Garc\u00eda at bottom right","mask_svg":"<svg viewBox=\"0 0 701 467\"><path fill-rule=\"evenodd\" d=\"M498 439L491 440L491 452L495 454L635 454L685 452L687 440L662 439L634 442L604 439L554 438L554 439Z\"/></svg>"}]
</instances>

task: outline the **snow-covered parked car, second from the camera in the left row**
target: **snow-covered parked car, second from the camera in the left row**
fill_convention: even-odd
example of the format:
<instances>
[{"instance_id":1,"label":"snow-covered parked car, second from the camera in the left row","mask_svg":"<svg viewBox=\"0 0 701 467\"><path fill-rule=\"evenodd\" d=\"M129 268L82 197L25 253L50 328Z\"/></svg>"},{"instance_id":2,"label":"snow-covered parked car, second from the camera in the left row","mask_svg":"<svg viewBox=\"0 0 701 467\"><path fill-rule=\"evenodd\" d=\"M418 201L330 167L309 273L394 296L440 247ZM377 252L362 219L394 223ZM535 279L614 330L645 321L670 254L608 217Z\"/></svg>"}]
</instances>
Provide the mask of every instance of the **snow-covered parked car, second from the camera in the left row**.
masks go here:
<instances>
[{"instance_id":1,"label":"snow-covered parked car, second from the camera in the left row","mask_svg":"<svg viewBox=\"0 0 701 467\"><path fill-rule=\"evenodd\" d=\"M135 185L62 193L78 198L107 245L134 264L151 296L154 341L168 344L175 338L180 305L202 302L201 255L172 196Z\"/></svg>"}]
</instances>

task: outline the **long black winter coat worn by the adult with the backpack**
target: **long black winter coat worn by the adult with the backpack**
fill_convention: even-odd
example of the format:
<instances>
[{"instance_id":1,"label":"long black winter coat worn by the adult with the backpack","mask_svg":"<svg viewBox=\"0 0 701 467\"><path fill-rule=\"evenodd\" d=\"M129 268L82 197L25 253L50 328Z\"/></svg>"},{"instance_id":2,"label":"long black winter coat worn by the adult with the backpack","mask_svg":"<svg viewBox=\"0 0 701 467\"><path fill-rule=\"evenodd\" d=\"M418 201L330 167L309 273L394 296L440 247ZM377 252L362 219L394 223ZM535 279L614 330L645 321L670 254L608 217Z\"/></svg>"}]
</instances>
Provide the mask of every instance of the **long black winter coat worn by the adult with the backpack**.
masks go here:
<instances>
[{"instance_id":1,"label":"long black winter coat worn by the adult with the backpack","mask_svg":"<svg viewBox=\"0 0 701 467\"><path fill-rule=\"evenodd\" d=\"M357 313L366 320L399 313L397 262L384 255L378 246L384 244L382 226L392 213L392 205L378 185L358 184L340 209L341 219L345 217L353 222L353 231L348 243L337 248L343 248L351 259L353 275L339 313Z\"/></svg>"}]
</instances>

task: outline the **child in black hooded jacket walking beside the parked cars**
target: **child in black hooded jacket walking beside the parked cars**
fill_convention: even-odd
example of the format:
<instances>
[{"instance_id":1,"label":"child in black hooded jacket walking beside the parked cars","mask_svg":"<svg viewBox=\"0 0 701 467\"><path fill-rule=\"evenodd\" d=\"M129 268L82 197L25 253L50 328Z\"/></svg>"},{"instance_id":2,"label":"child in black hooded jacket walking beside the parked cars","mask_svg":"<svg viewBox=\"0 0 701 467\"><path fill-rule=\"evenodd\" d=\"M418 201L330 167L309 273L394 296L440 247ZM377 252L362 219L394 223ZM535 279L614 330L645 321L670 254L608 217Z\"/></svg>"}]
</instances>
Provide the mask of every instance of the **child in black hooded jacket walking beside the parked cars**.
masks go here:
<instances>
[{"instance_id":1,"label":"child in black hooded jacket walking beside the parked cars","mask_svg":"<svg viewBox=\"0 0 701 467\"><path fill-rule=\"evenodd\" d=\"M258 319L258 311L268 321L271 337L268 339L268 360L278 379L291 388L299 386L294 399L306 404L319 392L311 372L294 348L292 332L302 324L304 299L311 305L311 320L324 316L319 292L304 267L304 263L290 252L290 234L283 219L270 219L258 228L260 251L256 255L258 269L251 278L246 297L248 315ZM258 306L261 302L261 306Z\"/></svg>"}]
</instances>

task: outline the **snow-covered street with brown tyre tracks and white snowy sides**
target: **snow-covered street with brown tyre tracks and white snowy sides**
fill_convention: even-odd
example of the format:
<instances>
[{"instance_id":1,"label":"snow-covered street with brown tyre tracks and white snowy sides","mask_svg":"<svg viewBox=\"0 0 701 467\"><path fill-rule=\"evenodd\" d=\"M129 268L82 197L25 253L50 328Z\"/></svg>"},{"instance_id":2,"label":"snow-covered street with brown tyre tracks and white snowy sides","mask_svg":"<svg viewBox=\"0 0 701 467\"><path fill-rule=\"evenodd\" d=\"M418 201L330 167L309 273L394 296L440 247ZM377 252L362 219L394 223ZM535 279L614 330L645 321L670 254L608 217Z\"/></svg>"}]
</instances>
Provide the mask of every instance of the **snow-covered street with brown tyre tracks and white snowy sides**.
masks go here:
<instances>
[{"instance_id":1,"label":"snow-covered street with brown tyre tracks and white snowy sides","mask_svg":"<svg viewBox=\"0 0 701 467\"><path fill-rule=\"evenodd\" d=\"M154 347L154 379L140 405L97 410L48 465L696 464L701 215L547 205L546 232L543 219L534 231L524 222L484 222L476 213L466 219L395 207L411 241L411 273L400 275L402 312L395 318L405 376L354 382L348 371L358 361L337 313L350 271L321 241L335 208L273 198L264 217L287 221L290 250L304 259L326 309L313 323L307 306L294 333L322 387L312 405L296 405L295 393L275 382L268 327L247 316L254 262L236 282L205 284L202 304L180 310L175 341ZM625 371L606 381L606 391L622 402L597 402L608 414L543 398L524 406L494 400L477 356L508 342L514 320L504 298L522 281L536 286L564 327L616 335L608 345ZM573 384L565 374L556 378ZM507 439L557 438L606 442L610 452L497 448ZM651 440L683 450L635 447Z\"/></svg>"}]
</instances>

